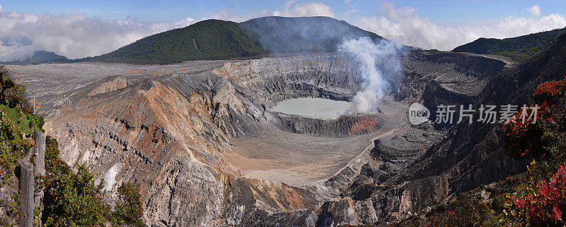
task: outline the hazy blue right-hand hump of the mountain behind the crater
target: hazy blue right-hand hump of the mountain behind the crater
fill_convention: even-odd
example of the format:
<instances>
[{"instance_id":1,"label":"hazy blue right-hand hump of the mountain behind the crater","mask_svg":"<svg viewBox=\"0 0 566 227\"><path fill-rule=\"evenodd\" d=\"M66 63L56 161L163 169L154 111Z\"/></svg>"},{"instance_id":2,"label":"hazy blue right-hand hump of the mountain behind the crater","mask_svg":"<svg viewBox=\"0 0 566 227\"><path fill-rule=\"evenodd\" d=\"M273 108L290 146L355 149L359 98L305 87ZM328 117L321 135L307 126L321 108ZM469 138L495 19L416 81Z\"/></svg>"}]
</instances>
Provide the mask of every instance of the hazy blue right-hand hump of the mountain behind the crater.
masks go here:
<instances>
[{"instance_id":1,"label":"hazy blue right-hand hump of the mountain behind the crater","mask_svg":"<svg viewBox=\"0 0 566 227\"><path fill-rule=\"evenodd\" d=\"M383 39L373 32L362 30L329 17L284 18L270 16L255 18L240 25L260 37L266 52L329 52L337 51L343 39L370 37Z\"/></svg>"}]
</instances>

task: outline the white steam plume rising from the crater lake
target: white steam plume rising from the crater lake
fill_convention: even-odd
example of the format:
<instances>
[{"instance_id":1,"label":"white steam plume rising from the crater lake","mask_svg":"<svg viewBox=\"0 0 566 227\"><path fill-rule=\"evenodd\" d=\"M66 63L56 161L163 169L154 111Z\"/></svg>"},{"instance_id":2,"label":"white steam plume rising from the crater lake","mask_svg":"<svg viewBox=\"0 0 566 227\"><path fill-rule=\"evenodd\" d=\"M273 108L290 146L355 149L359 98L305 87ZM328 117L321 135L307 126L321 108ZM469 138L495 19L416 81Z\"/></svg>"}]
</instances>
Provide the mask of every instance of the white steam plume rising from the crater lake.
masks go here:
<instances>
[{"instance_id":1,"label":"white steam plume rising from the crater lake","mask_svg":"<svg viewBox=\"0 0 566 227\"><path fill-rule=\"evenodd\" d=\"M350 39L340 45L339 51L353 54L359 62L360 75L364 80L362 90L354 96L352 108L346 114L376 111L389 86L386 79L400 73L398 51L401 47L388 40L375 44L368 37Z\"/></svg>"}]
</instances>

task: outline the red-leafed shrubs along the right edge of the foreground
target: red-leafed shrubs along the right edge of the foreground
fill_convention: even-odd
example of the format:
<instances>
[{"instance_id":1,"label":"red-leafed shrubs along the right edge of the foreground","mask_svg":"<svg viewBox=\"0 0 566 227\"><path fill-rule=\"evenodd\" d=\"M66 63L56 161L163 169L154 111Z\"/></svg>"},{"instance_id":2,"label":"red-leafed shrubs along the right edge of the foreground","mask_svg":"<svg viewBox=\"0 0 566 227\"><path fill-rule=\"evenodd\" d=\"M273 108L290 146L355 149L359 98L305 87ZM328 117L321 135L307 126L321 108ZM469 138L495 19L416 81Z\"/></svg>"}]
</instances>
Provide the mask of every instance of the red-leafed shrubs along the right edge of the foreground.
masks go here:
<instances>
[{"instance_id":1,"label":"red-leafed shrubs along the right edge of the foreground","mask_svg":"<svg viewBox=\"0 0 566 227\"><path fill-rule=\"evenodd\" d=\"M566 221L566 78L538 85L536 121L504 123L504 149L515 159L532 158L529 173L509 195L507 220L519 225L564 226ZM516 115L519 117L519 114Z\"/></svg>"}]
</instances>

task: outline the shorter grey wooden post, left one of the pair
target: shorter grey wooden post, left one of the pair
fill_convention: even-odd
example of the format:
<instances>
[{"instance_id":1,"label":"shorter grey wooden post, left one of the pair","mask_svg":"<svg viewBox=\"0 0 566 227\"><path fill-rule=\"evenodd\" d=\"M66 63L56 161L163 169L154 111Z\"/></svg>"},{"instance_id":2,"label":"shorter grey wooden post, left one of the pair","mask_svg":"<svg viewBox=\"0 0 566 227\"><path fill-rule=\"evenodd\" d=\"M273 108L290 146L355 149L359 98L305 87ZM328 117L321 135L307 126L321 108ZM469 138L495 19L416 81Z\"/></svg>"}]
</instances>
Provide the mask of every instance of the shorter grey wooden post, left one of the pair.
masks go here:
<instances>
[{"instance_id":1,"label":"shorter grey wooden post, left one of the pair","mask_svg":"<svg viewBox=\"0 0 566 227\"><path fill-rule=\"evenodd\" d=\"M28 159L18 161L20 171L20 224L18 226L33 226L34 190L33 165Z\"/></svg>"}]
</instances>

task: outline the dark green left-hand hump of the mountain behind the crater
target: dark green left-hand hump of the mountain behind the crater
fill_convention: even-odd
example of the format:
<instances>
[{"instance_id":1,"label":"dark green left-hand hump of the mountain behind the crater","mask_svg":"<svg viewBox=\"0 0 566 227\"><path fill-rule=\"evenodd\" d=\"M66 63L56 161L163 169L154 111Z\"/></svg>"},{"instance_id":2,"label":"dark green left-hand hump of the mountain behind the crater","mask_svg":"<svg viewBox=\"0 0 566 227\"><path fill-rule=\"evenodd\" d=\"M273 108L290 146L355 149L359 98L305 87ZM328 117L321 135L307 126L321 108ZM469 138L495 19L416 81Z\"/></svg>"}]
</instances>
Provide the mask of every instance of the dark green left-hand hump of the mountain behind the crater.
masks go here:
<instances>
[{"instance_id":1,"label":"dark green left-hand hump of the mountain behind the crater","mask_svg":"<svg viewBox=\"0 0 566 227\"><path fill-rule=\"evenodd\" d=\"M189 60L231 59L262 53L258 37L238 23L204 20L188 27L151 35L108 54L86 61L179 63Z\"/></svg>"}]
</instances>

